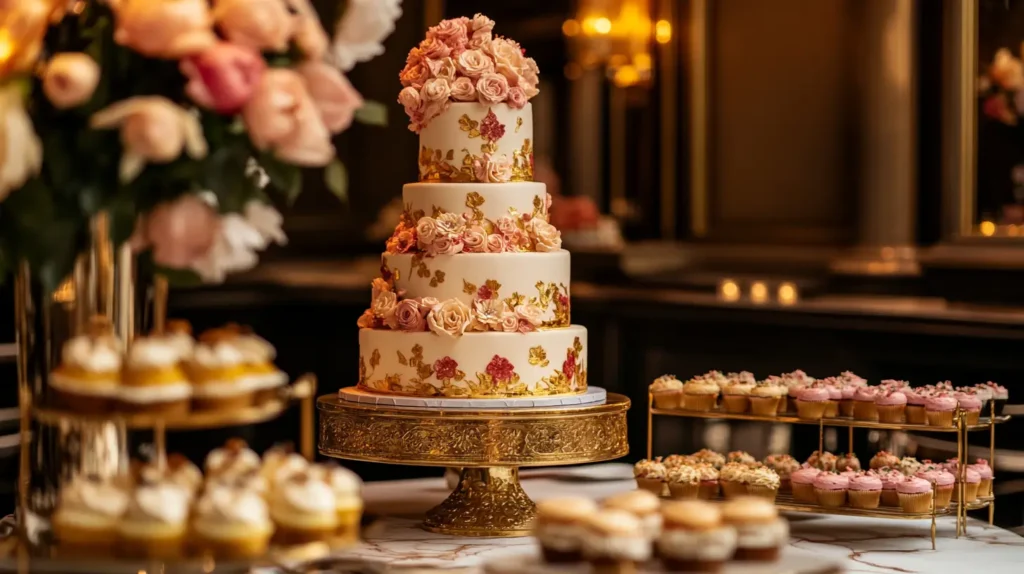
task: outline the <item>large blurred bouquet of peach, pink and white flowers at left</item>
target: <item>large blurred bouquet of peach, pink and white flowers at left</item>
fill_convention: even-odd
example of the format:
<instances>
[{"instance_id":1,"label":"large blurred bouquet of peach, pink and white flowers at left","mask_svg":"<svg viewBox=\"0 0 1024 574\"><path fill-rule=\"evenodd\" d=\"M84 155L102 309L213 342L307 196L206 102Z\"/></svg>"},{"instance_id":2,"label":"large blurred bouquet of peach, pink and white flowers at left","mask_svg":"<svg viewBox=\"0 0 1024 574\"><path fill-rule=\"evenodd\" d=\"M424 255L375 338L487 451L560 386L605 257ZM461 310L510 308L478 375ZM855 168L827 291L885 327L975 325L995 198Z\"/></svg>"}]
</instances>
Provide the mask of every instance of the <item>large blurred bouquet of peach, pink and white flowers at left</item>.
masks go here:
<instances>
[{"instance_id":1,"label":"large blurred bouquet of peach, pink and white flowers at left","mask_svg":"<svg viewBox=\"0 0 1024 574\"><path fill-rule=\"evenodd\" d=\"M344 73L383 53L400 0L0 0L0 273L52 290L108 215L165 269L205 280L284 242L271 201L302 168L345 192L332 137L383 122Z\"/></svg>"}]
</instances>

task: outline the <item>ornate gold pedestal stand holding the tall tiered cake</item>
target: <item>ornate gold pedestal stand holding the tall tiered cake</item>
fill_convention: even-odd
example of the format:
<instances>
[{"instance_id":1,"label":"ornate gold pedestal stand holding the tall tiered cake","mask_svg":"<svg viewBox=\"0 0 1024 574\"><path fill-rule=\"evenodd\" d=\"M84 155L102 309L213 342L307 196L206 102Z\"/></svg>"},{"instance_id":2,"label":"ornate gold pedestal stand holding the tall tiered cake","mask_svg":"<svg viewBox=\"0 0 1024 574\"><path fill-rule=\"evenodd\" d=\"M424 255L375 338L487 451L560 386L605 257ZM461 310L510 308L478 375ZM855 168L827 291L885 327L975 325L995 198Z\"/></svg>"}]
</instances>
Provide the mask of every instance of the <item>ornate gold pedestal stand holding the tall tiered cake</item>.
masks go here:
<instances>
[{"instance_id":1,"label":"ornate gold pedestal stand holding the tall tiered cake","mask_svg":"<svg viewBox=\"0 0 1024 574\"><path fill-rule=\"evenodd\" d=\"M526 536L536 514L520 467L597 462L629 453L630 400L608 393L579 407L438 409L317 399L327 456L462 468L459 486L427 513L424 528L458 536Z\"/></svg>"}]
</instances>

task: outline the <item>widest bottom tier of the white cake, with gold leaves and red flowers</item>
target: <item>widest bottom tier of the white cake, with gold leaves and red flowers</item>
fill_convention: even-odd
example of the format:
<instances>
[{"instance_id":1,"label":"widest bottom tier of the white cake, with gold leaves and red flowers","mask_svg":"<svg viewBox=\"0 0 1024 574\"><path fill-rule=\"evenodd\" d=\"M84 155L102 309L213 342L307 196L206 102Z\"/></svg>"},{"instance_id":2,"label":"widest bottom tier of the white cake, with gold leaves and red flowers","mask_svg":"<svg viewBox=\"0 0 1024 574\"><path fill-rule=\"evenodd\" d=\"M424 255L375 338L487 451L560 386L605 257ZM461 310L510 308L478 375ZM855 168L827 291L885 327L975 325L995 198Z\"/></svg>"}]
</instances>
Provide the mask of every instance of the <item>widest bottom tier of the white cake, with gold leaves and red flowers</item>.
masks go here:
<instances>
[{"instance_id":1,"label":"widest bottom tier of the white cake, with gold leaves and red flowers","mask_svg":"<svg viewBox=\"0 0 1024 574\"><path fill-rule=\"evenodd\" d=\"M527 397L587 390L587 329L359 330L359 388L417 397Z\"/></svg>"}]
</instances>

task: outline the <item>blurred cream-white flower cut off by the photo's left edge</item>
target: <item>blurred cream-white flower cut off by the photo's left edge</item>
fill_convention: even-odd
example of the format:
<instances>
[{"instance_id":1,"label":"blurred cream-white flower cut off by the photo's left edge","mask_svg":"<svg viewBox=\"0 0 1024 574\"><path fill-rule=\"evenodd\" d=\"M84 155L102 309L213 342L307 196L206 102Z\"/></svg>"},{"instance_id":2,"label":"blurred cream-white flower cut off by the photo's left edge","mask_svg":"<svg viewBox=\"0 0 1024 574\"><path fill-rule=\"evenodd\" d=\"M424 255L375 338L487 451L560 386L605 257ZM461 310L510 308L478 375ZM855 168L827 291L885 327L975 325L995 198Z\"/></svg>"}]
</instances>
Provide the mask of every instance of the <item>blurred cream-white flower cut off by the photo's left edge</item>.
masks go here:
<instances>
[{"instance_id":1,"label":"blurred cream-white flower cut off by the photo's left edge","mask_svg":"<svg viewBox=\"0 0 1024 574\"><path fill-rule=\"evenodd\" d=\"M0 88L0 201L39 173L43 146L15 84Z\"/></svg>"}]
</instances>

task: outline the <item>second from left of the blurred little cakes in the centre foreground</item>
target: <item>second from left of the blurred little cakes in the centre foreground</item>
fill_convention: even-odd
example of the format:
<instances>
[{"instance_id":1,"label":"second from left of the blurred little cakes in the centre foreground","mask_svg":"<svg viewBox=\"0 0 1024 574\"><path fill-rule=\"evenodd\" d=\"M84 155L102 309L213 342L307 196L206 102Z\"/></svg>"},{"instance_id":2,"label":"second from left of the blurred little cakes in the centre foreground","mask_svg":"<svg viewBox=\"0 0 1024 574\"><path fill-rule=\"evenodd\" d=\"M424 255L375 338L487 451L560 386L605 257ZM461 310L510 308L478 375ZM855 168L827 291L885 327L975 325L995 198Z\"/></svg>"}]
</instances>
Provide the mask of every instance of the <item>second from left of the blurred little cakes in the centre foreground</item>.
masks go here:
<instances>
[{"instance_id":1,"label":"second from left of the blurred little cakes in the centre foreground","mask_svg":"<svg viewBox=\"0 0 1024 574\"><path fill-rule=\"evenodd\" d=\"M595 574L632 573L650 560L651 538L630 513L599 511L587 518L583 555Z\"/></svg>"}]
</instances>

